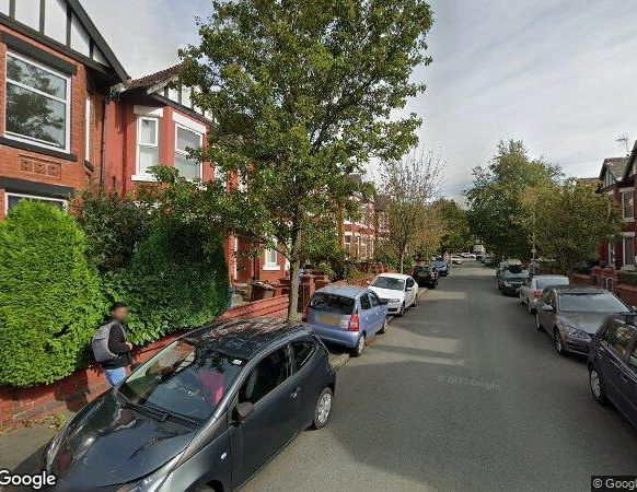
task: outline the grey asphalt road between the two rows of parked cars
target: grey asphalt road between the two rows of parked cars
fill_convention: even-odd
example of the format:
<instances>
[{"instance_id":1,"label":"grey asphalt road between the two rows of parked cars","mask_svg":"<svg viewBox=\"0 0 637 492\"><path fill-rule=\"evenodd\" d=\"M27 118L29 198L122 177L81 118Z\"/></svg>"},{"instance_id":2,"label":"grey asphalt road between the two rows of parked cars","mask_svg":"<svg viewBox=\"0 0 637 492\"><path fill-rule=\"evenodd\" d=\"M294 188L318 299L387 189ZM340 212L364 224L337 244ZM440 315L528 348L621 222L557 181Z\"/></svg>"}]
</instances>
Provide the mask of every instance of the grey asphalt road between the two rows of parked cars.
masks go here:
<instances>
[{"instance_id":1,"label":"grey asphalt road between the two rows of parked cars","mask_svg":"<svg viewBox=\"0 0 637 492\"><path fill-rule=\"evenodd\" d=\"M246 491L590 490L637 473L637 431L589 393L494 270L463 265L338 373L332 420Z\"/></svg>"}]
</instances>

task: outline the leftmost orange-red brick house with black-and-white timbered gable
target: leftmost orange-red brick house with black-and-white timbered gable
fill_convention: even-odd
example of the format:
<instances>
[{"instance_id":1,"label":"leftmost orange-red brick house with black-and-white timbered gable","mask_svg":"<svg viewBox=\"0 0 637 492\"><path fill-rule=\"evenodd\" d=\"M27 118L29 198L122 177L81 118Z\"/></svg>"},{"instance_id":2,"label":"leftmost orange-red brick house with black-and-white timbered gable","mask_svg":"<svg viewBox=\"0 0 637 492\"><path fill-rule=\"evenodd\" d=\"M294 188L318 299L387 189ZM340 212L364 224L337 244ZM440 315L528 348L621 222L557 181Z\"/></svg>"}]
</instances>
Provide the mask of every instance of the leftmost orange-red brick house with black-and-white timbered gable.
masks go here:
<instances>
[{"instance_id":1,"label":"leftmost orange-red brick house with black-and-white timbered gable","mask_svg":"<svg viewBox=\"0 0 637 492\"><path fill-rule=\"evenodd\" d=\"M109 87L128 74L78 0L0 1L0 219L100 179Z\"/></svg>"}]
</instances>

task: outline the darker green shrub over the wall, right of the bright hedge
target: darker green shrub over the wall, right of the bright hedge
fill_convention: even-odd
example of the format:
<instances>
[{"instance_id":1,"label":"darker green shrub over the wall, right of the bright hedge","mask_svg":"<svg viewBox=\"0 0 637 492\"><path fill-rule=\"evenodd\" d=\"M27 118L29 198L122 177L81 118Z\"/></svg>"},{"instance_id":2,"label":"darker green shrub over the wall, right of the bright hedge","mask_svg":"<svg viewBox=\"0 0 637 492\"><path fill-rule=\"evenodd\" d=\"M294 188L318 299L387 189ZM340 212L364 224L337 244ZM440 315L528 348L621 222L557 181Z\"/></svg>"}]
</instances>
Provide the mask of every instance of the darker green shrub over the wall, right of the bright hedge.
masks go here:
<instances>
[{"instance_id":1,"label":"darker green shrub over the wall, right of the bright hedge","mask_svg":"<svg viewBox=\"0 0 637 492\"><path fill-rule=\"evenodd\" d=\"M128 304L135 344L209 323L228 307L221 242L194 226L163 224L139 245L129 268L105 276L104 291L109 302Z\"/></svg>"}]
</instances>

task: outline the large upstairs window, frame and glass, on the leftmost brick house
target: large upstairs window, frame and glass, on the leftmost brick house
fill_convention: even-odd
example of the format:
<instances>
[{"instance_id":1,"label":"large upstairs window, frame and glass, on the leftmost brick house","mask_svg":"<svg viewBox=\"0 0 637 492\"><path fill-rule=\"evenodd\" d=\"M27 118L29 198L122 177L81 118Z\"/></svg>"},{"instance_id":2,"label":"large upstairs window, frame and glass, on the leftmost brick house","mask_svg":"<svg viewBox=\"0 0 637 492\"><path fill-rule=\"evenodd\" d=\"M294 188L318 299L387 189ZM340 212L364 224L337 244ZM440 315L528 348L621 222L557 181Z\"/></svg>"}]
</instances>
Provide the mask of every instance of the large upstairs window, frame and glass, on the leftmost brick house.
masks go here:
<instances>
[{"instance_id":1,"label":"large upstairs window, frame and glass, on the leftmost brick house","mask_svg":"<svg viewBox=\"0 0 637 492\"><path fill-rule=\"evenodd\" d=\"M8 52L5 137L68 152L70 86L67 75Z\"/></svg>"}]
</instances>

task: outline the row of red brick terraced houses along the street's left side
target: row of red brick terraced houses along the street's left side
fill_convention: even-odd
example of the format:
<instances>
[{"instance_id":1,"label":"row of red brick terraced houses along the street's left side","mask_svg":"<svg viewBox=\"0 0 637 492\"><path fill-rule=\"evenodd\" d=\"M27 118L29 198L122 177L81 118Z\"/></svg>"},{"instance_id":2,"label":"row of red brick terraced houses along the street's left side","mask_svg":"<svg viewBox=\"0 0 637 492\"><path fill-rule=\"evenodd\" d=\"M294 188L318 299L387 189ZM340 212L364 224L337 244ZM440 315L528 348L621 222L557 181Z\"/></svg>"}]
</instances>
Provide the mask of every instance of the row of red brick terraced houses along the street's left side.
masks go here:
<instances>
[{"instance_id":1,"label":"row of red brick terraced houses along the street's left side","mask_svg":"<svg viewBox=\"0 0 637 492\"><path fill-rule=\"evenodd\" d=\"M177 72L131 79L79 0L0 0L0 219L22 199L66 207L88 183L134 191L153 180L157 163L188 179L220 178L188 159L186 149L206 144L211 118L193 104L193 89L175 85ZM361 219L344 221L339 237L364 260L386 224L381 199L358 200ZM239 237L225 249L232 281L274 281L289 268L276 249L244 255L252 247Z\"/></svg>"}]
</instances>

